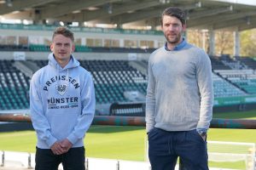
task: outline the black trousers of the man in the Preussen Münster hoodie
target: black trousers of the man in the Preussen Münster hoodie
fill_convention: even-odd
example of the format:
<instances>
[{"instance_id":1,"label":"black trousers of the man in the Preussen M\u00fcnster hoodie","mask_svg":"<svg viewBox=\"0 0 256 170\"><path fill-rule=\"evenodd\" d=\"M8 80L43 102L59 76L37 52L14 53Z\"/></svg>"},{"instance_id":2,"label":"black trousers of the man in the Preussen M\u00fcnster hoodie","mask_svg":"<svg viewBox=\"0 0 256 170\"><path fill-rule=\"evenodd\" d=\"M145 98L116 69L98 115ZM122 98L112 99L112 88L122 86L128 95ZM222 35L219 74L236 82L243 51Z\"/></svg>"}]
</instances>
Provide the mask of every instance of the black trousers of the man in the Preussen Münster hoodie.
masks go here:
<instances>
[{"instance_id":1,"label":"black trousers of the man in the Preussen M\u00fcnster hoodie","mask_svg":"<svg viewBox=\"0 0 256 170\"><path fill-rule=\"evenodd\" d=\"M62 163L64 170L85 170L84 147L71 148L65 154L54 155L49 149L36 152L36 170L57 170Z\"/></svg>"}]
</instances>

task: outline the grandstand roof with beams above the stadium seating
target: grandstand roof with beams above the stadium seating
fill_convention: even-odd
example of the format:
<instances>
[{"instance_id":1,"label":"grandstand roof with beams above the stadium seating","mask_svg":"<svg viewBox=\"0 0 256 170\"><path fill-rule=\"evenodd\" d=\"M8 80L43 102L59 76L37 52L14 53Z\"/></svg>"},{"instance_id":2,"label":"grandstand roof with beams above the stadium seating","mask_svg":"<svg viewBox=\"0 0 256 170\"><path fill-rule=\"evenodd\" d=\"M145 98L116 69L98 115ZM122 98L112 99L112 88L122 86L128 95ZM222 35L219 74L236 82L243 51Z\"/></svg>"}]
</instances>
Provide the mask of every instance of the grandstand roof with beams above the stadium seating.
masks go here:
<instances>
[{"instance_id":1,"label":"grandstand roof with beams above the stadium seating","mask_svg":"<svg viewBox=\"0 0 256 170\"><path fill-rule=\"evenodd\" d=\"M87 26L160 26L166 7L186 10L188 28L236 29L256 27L253 0L0 0L0 21L33 20L35 23L72 23Z\"/></svg>"}]
</instances>

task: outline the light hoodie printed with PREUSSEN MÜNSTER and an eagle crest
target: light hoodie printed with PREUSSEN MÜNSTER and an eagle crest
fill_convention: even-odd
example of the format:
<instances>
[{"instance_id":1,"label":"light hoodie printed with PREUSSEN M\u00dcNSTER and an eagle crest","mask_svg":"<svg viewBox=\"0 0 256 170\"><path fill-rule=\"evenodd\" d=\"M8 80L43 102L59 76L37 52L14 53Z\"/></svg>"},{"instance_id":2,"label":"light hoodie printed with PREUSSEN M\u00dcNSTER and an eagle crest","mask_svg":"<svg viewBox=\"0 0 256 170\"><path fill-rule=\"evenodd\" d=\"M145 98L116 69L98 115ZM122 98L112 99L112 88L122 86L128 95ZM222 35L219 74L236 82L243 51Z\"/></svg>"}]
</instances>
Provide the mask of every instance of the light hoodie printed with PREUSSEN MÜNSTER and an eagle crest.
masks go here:
<instances>
[{"instance_id":1,"label":"light hoodie printed with PREUSSEN M\u00dcNSTER and an eagle crest","mask_svg":"<svg viewBox=\"0 0 256 170\"><path fill-rule=\"evenodd\" d=\"M38 148L49 149L68 139L73 147L84 146L84 135L95 113L95 90L88 71L71 56L61 68L53 54L49 64L37 71L30 84L32 125Z\"/></svg>"}]
</instances>

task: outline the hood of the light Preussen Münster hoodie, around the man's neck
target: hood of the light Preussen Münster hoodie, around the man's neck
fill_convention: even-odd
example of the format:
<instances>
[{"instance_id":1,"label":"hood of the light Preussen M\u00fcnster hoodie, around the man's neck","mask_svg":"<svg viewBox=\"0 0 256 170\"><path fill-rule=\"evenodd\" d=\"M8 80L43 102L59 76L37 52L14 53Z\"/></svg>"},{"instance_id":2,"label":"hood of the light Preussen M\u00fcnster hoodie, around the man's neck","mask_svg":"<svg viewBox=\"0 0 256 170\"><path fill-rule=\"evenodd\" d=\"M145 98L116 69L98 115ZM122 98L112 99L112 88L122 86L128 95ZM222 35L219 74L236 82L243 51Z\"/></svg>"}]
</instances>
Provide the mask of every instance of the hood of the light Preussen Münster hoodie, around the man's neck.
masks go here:
<instances>
[{"instance_id":1,"label":"hood of the light Preussen M\u00fcnster hoodie, around the man's neck","mask_svg":"<svg viewBox=\"0 0 256 170\"><path fill-rule=\"evenodd\" d=\"M70 55L70 57L71 59L69 60L68 64L64 68L61 68L61 65L56 61L54 54L51 53L48 56L48 59L49 59L48 64L60 71L78 67L80 65L79 61L75 59L72 54Z\"/></svg>"}]
</instances>

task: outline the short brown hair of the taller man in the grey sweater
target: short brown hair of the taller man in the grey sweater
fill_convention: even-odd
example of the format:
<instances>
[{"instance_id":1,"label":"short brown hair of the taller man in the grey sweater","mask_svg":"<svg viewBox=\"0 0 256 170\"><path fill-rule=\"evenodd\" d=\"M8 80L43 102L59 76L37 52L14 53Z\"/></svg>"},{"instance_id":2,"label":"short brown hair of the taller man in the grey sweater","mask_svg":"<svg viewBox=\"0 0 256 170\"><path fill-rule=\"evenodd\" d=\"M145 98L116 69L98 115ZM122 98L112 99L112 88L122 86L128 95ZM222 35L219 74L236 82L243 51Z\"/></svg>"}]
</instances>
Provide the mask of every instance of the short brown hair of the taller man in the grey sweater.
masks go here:
<instances>
[{"instance_id":1,"label":"short brown hair of the taller man in the grey sweater","mask_svg":"<svg viewBox=\"0 0 256 170\"><path fill-rule=\"evenodd\" d=\"M161 26L163 26L163 17L164 17L164 15L174 16L178 20L180 20L183 25L186 24L186 13L181 8L177 8L177 7L166 8L163 11L162 16L161 16L161 20L160 20Z\"/></svg>"}]
</instances>

